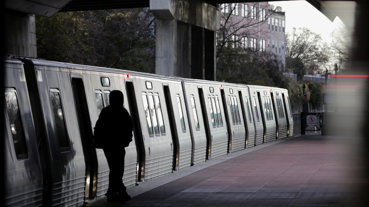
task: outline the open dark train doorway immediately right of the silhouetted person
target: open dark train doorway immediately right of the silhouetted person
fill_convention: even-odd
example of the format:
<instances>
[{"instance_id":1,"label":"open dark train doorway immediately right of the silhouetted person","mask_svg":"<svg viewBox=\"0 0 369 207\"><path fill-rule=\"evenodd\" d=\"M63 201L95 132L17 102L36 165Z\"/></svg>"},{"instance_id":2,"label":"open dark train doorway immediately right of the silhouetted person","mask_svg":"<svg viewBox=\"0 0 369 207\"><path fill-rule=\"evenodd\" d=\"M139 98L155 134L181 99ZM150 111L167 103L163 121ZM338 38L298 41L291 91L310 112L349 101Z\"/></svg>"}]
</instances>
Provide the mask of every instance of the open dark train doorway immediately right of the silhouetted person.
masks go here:
<instances>
[{"instance_id":1,"label":"open dark train doorway immediately right of the silhouetted person","mask_svg":"<svg viewBox=\"0 0 369 207\"><path fill-rule=\"evenodd\" d=\"M130 114L133 122L133 133L135 137L135 144L137 150L137 181L143 181L145 168L145 146L141 137L142 134L141 121L139 120L138 105L135 96L135 88L131 81L126 81L128 104L130 105Z\"/></svg>"}]
</instances>

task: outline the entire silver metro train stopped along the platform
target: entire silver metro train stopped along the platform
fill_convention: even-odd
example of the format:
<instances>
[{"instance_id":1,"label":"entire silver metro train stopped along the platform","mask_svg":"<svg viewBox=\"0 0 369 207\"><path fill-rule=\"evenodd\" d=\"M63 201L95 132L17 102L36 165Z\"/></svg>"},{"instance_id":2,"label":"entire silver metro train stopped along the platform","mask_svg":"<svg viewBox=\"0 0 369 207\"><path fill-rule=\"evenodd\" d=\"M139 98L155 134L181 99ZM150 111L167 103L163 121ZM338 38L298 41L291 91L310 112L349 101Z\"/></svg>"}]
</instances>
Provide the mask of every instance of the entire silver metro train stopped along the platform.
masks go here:
<instances>
[{"instance_id":1,"label":"entire silver metro train stopped along the platform","mask_svg":"<svg viewBox=\"0 0 369 207\"><path fill-rule=\"evenodd\" d=\"M112 90L123 92L134 122L127 187L293 135L282 88L4 61L6 206L83 206L104 197L109 168L92 135Z\"/></svg>"}]
</instances>

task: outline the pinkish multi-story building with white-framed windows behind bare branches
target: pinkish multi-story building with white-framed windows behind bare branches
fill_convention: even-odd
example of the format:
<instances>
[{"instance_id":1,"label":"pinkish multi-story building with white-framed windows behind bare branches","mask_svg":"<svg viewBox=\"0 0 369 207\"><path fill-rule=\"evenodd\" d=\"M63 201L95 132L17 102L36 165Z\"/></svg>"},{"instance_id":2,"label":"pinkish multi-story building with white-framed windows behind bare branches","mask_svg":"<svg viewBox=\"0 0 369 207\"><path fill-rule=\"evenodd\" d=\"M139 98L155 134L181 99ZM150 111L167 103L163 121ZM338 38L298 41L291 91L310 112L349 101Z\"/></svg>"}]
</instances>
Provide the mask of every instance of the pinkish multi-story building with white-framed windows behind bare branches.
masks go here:
<instances>
[{"instance_id":1,"label":"pinkish multi-story building with white-framed windows behind bare branches","mask_svg":"<svg viewBox=\"0 0 369 207\"><path fill-rule=\"evenodd\" d=\"M221 27L232 47L255 52L272 52L282 61L285 70L285 20L281 7L276 10L267 1L221 4ZM227 46L227 45L226 45Z\"/></svg>"}]
</instances>

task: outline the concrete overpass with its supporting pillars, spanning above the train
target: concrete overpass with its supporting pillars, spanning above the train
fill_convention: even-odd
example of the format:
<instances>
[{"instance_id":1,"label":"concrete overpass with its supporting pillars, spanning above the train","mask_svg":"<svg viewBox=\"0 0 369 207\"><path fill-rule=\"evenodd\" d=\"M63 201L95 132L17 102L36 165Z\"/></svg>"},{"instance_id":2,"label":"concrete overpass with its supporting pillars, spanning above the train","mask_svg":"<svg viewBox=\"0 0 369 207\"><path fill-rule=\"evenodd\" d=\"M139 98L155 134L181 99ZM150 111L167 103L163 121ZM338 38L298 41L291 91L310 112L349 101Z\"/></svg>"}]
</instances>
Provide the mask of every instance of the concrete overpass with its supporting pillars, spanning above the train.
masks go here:
<instances>
[{"instance_id":1,"label":"concrete overpass with its supporting pillars, spanning above the train","mask_svg":"<svg viewBox=\"0 0 369 207\"><path fill-rule=\"evenodd\" d=\"M215 31L220 24L217 4L260 0L5 0L6 54L37 57L34 15L57 12L149 7L156 18L156 73L215 80ZM353 14L333 0L307 0L331 21L336 16L349 27ZM356 0L356 31L366 27L368 2ZM338 5L338 6L337 6ZM296 8L303 11L303 8ZM356 34L361 43L366 32ZM365 45L365 44L364 44ZM359 47L363 44L358 45ZM356 50L359 51L359 50ZM361 50L360 50L361 51ZM366 50L363 50L366 51ZM367 54L367 52L365 53ZM362 52L358 52L359 56ZM198 70L202 68L203 70Z\"/></svg>"}]
</instances>

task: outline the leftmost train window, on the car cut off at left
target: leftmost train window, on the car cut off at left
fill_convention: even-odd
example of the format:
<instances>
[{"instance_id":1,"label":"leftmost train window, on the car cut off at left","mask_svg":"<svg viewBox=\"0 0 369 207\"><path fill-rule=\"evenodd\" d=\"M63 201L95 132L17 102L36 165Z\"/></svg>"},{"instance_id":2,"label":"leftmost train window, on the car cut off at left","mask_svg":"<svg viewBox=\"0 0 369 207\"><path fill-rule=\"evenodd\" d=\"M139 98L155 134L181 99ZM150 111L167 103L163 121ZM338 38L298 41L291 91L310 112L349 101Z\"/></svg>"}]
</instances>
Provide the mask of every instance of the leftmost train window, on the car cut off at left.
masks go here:
<instances>
[{"instance_id":1,"label":"leftmost train window, on the car cut off at left","mask_svg":"<svg viewBox=\"0 0 369 207\"><path fill-rule=\"evenodd\" d=\"M15 91L5 91L6 109L10 123L11 135L17 159L27 159L28 150L25 140L21 113L18 105L18 98Z\"/></svg>"}]
</instances>

